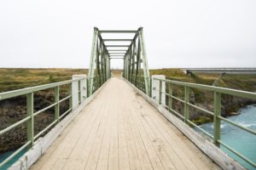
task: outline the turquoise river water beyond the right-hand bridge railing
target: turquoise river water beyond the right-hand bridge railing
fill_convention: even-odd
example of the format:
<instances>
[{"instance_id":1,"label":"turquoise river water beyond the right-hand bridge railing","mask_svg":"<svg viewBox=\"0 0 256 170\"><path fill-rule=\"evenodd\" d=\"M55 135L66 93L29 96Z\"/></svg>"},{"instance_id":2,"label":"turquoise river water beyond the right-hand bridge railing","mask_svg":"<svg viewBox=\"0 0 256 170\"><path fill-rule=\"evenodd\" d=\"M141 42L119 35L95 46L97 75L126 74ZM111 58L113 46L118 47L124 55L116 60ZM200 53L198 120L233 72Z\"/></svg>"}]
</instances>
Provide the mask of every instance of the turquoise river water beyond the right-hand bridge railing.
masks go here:
<instances>
[{"instance_id":1,"label":"turquoise river water beyond the right-hand bridge railing","mask_svg":"<svg viewBox=\"0 0 256 170\"><path fill-rule=\"evenodd\" d=\"M238 116L228 117L231 121L237 122L244 127L256 130L256 105L248 105L239 111L241 114ZM206 123L201 125L208 133L213 132L213 125L211 123ZM233 149L240 152L243 156L246 156L251 161L256 162L256 136L247 133L244 130L234 127L227 122L221 122L221 140L230 145ZM233 157L236 161L240 162L243 167L248 169L256 169L249 165L246 161L241 160L240 157L231 153L230 150L221 146L221 150L224 150L228 155Z\"/></svg>"}]
</instances>

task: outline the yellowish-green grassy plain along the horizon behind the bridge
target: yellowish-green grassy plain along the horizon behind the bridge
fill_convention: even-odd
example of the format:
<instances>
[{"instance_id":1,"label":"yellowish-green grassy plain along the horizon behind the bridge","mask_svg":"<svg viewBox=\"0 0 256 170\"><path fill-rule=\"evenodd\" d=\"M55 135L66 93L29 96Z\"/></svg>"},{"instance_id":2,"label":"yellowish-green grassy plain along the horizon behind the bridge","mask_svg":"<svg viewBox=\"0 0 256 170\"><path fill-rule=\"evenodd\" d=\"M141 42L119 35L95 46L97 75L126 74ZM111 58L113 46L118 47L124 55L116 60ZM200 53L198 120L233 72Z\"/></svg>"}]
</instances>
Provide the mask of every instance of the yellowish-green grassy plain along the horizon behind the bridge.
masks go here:
<instances>
[{"instance_id":1,"label":"yellowish-green grassy plain along the horizon behind the bridge","mask_svg":"<svg viewBox=\"0 0 256 170\"><path fill-rule=\"evenodd\" d=\"M120 70L113 70L113 76L118 77ZM74 74L87 74L87 69L20 69L0 68L0 93L71 79ZM165 75L166 78L182 81L212 85L217 79L217 74L192 74L186 75L179 69L151 70L151 75ZM235 88L256 91L256 75L224 75L218 83L219 87Z\"/></svg>"}]
</instances>

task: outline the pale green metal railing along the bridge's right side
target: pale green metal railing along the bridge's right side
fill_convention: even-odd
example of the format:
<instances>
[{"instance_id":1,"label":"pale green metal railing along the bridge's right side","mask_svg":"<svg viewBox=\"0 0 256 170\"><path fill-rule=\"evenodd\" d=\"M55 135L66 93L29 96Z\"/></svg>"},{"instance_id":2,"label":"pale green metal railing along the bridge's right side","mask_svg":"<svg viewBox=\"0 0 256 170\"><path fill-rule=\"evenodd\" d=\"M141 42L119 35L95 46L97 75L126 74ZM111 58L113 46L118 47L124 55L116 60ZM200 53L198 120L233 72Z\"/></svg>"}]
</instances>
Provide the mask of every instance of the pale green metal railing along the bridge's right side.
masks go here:
<instances>
[{"instance_id":1,"label":"pale green metal railing along the bridge's right side","mask_svg":"<svg viewBox=\"0 0 256 170\"><path fill-rule=\"evenodd\" d=\"M246 156L243 156L241 153L236 151L234 148L230 147L228 144L225 144L221 139L220 139L220 132L221 132L221 121L230 123L230 125L233 125L235 127L238 127L247 133L251 133L253 135L256 135L256 131L249 129L247 127L241 126L240 124L236 122L232 122L229 119L225 118L224 116L221 116L221 96L222 94L229 94L232 96L236 97L241 97L241 98L246 98L246 99L256 99L256 93L251 93L247 91L241 91L241 90L236 90L236 89L230 89L230 88L218 88L218 87L212 87L208 85L202 85L202 84L195 84L195 83L190 83L190 82L178 82L178 81L172 81L172 80L166 80L166 79L160 79L160 78L152 78L153 80L159 81L159 87L154 89L159 92L160 99L158 100L159 104L161 104L161 96L162 94L165 94L167 96L168 102L167 105L163 105L168 111L173 113L175 116L179 117L180 119L183 120L183 122L189 124L189 126L195 127L199 129L202 133L205 133L210 139L212 139L212 142L216 144L218 147L220 145L223 145L224 148L227 150L230 150L232 153L236 154L236 156L239 156L242 160L247 161L250 165L253 167L256 167L256 163L249 160ZM163 92L161 87L162 83L166 82L166 92ZM177 98L172 94L173 92L173 85L177 85L179 87L183 87L184 90L184 96L183 99ZM201 90L207 90L210 91L214 94L214 101L213 101L213 106L214 106L214 111L207 111L204 108L201 108L197 105L189 103L189 94L190 94L190 88L197 88ZM168 90L167 90L168 89ZM173 99L176 99L179 102L183 103L183 115L177 111L175 111L172 107ZM213 116L213 136L210 133L207 133L203 128L197 126L194 122L191 122L189 120L189 108L193 107L199 111L203 111L211 116Z\"/></svg>"}]
</instances>

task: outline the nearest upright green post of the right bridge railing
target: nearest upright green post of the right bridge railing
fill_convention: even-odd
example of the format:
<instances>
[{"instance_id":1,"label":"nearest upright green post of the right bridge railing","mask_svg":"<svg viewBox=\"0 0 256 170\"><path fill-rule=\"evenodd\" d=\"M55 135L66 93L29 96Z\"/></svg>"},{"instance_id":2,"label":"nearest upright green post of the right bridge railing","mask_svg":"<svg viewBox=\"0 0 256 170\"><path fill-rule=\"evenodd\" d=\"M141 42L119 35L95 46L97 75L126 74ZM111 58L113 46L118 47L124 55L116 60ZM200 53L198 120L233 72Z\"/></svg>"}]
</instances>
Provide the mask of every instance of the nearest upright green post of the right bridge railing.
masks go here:
<instances>
[{"instance_id":1,"label":"nearest upright green post of the right bridge railing","mask_svg":"<svg viewBox=\"0 0 256 170\"><path fill-rule=\"evenodd\" d=\"M218 116L221 115L221 94L214 92L214 135L213 142L219 146L218 140L220 139L220 119Z\"/></svg>"}]
</instances>

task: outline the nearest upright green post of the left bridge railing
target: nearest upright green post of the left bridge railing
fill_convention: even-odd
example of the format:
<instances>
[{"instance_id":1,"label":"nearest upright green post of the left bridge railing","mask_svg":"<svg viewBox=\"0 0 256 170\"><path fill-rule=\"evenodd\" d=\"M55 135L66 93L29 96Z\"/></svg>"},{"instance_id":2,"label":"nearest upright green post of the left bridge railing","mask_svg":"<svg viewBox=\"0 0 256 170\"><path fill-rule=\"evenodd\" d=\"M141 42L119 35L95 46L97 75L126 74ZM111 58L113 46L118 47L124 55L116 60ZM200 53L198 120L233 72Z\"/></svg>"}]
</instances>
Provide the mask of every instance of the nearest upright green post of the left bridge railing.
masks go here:
<instances>
[{"instance_id":1,"label":"nearest upright green post of the left bridge railing","mask_svg":"<svg viewBox=\"0 0 256 170\"><path fill-rule=\"evenodd\" d=\"M31 144L28 146L32 147L34 144L34 94L26 94L26 114L30 119L26 122L26 133L27 140L31 141Z\"/></svg>"}]
</instances>

